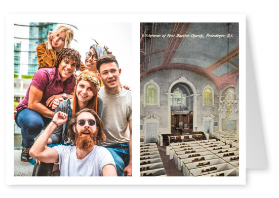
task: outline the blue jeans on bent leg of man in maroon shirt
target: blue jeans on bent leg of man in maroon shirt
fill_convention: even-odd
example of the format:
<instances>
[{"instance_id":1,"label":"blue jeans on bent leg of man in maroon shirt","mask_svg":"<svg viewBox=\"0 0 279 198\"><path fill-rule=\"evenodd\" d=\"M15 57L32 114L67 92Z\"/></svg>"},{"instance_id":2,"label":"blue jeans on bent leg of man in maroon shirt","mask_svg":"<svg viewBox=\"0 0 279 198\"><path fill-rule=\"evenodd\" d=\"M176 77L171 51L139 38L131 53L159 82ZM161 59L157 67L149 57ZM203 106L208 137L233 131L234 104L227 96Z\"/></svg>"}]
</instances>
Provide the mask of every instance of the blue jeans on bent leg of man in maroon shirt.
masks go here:
<instances>
[{"instance_id":1,"label":"blue jeans on bent leg of man in maroon shirt","mask_svg":"<svg viewBox=\"0 0 279 198\"><path fill-rule=\"evenodd\" d=\"M43 129L51 122L51 118L42 116L41 114L28 108L20 109L16 116L15 122L21 128L21 136L23 147L30 147Z\"/></svg>"}]
</instances>

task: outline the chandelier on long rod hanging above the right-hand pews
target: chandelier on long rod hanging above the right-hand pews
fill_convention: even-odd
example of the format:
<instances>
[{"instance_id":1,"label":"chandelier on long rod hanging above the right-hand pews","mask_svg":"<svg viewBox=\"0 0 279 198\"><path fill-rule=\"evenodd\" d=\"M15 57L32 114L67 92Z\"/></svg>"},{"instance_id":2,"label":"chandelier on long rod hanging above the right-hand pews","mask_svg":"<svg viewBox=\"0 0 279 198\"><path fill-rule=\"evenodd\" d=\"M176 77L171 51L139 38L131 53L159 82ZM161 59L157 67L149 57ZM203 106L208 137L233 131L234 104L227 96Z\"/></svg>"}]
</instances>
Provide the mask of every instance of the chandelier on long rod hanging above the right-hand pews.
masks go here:
<instances>
[{"instance_id":1,"label":"chandelier on long rod hanging above the right-hand pews","mask_svg":"<svg viewBox=\"0 0 279 198\"><path fill-rule=\"evenodd\" d=\"M225 113L225 118L228 119L231 113L237 113L237 101L234 100L234 93L229 91L229 25L231 23L227 23L227 93L225 94L225 100L220 99L220 108L219 112Z\"/></svg>"}]
</instances>

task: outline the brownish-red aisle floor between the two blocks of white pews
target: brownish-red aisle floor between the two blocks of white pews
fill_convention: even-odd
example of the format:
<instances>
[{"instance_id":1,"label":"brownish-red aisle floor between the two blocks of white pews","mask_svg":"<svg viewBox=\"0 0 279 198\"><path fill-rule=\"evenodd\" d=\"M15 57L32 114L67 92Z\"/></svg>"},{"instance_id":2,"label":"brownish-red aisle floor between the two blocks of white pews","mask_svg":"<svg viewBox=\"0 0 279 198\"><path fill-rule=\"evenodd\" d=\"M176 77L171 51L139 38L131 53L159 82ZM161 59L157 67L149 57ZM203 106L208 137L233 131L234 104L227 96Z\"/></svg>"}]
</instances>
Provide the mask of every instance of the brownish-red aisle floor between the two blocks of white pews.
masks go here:
<instances>
[{"instance_id":1,"label":"brownish-red aisle floor between the two blocks of white pews","mask_svg":"<svg viewBox=\"0 0 279 198\"><path fill-rule=\"evenodd\" d=\"M182 173L177 169L173 160L170 160L170 156L166 155L166 146L158 146L159 153L161 155L164 168L168 176L183 176Z\"/></svg>"}]
</instances>

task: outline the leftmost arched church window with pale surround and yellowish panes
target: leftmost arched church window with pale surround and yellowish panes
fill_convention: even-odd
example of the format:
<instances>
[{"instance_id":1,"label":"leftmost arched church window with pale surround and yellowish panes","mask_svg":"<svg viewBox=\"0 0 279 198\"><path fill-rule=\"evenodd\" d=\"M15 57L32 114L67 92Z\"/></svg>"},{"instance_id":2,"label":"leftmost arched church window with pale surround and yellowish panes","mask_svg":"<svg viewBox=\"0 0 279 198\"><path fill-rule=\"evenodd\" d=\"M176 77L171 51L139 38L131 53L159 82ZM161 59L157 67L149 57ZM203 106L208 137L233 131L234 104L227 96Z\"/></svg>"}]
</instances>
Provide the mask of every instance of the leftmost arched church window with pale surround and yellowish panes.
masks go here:
<instances>
[{"instance_id":1,"label":"leftmost arched church window with pale surround and yellowish panes","mask_svg":"<svg viewBox=\"0 0 279 198\"><path fill-rule=\"evenodd\" d=\"M160 87L153 80L148 81L143 88L143 106L160 104Z\"/></svg>"}]
</instances>

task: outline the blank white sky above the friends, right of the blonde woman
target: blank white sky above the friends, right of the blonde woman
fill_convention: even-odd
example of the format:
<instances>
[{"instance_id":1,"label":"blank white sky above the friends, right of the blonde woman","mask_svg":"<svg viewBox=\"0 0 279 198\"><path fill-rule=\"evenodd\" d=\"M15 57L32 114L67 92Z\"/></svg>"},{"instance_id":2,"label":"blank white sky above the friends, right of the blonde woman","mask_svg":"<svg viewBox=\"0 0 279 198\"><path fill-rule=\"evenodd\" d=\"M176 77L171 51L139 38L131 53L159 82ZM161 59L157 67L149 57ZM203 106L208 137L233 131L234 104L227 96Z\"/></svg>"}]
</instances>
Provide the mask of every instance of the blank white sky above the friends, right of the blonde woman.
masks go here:
<instances>
[{"instance_id":1,"label":"blank white sky above the friends, right of the blonde woman","mask_svg":"<svg viewBox=\"0 0 279 198\"><path fill-rule=\"evenodd\" d=\"M100 46L107 46L109 51L116 57L119 68L122 69L120 80L122 84L132 87L132 24L131 23L90 23L81 22L76 24L78 32L74 35L78 43L71 48L76 49L85 61L85 53L90 46L96 44L94 38Z\"/></svg>"}]
</instances>

